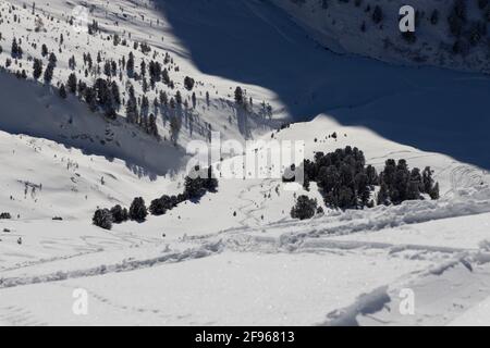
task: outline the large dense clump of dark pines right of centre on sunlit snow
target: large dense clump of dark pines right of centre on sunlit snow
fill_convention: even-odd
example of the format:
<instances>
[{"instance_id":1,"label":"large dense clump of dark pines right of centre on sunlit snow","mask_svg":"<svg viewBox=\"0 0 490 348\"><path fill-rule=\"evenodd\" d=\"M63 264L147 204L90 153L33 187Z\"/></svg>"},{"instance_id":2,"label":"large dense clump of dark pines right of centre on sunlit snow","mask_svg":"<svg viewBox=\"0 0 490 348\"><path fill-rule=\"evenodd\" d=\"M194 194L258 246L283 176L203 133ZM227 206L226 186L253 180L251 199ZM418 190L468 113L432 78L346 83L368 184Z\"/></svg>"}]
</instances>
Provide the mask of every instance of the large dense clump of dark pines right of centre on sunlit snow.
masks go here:
<instances>
[{"instance_id":1,"label":"large dense clump of dark pines right of centre on sunlit snow","mask_svg":"<svg viewBox=\"0 0 490 348\"><path fill-rule=\"evenodd\" d=\"M304 161L306 189L316 182L327 207L332 209L363 209L376 204L401 204L406 200L425 197L439 199L439 184L433 171L426 167L409 169L405 160L388 160L378 174L372 165L366 165L364 152L347 146L324 154L318 152L315 159ZM292 167L294 171L295 167ZM295 178L284 178L291 182ZM376 195L376 187L379 192ZM315 208L315 209L314 209ZM298 199L291 215L297 219L314 216L316 204L307 197Z\"/></svg>"}]
</instances>

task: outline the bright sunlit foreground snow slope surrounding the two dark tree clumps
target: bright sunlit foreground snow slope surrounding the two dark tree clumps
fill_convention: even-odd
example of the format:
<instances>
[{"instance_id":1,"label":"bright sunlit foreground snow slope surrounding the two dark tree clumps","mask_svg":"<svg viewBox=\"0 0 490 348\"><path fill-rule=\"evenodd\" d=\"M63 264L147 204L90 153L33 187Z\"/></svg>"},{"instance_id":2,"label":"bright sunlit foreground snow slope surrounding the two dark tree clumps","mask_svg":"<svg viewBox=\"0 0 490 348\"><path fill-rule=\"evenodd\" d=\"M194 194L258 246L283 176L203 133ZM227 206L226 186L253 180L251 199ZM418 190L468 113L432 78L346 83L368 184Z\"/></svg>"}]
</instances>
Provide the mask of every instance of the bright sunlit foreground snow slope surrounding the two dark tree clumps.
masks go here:
<instances>
[{"instance_id":1,"label":"bright sunlit foreground snow slope surrounding the two dark tree clumps","mask_svg":"<svg viewBox=\"0 0 490 348\"><path fill-rule=\"evenodd\" d=\"M342 136L328 138L332 132ZM108 232L88 224L90 202L103 201L108 194L114 200L107 204L127 202L128 197L118 194L122 186L125 192L138 190L151 199L156 185L173 194L180 189L179 181L135 179L123 163L87 158L49 141L2 135L7 141L2 148L14 147L20 158L32 162L2 154L9 166L17 167L19 174L2 176L2 187L14 194L15 204L32 207L34 215L39 207L57 207L62 200L66 204L61 213L70 219L35 215L2 223L7 229L0 238L0 291L5 302L0 304L0 322L307 325L356 320L376 324L379 316L393 325L412 319L445 324L485 300L477 286L489 282L490 177L486 172L388 141L367 129L343 127L328 116L292 125L274 137L308 137L308 157L354 145L365 149L368 163L376 167L388 158L430 164L438 173L442 198L344 213L326 209L324 216L298 222L289 217L293 196L306 194L321 201L315 185L310 191L294 192L285 190L280 179L220 179L218 192L199 203L180 204L163 216L114 225ZM52 151L65 157L50 159ZM242 157L229 161L242 163ZM77 163L73 171L79 176L72 175L65 162ZM34 175L33 169L49 176ZM107 172L114 177L107 175L101 185L99 173ZM24 186L15 175L34 175L44 183L42 189L28 186L23 196ZM70 183L69 176L75 182ZM59 182L73 189L54 189ZM100 194L84 201L77 190L89 185L89 191L97 187ZM70 204L73 201L75 207ZM457 289L462 279L467 287L450 291L437 308L430 306L430 294L438 291L440 282ZM396 315L400 291L406 287L426 294L419 295L417 316ZM71 312L76 288L89 294L88 316ZM377 308L379 301L392 310L384 312L381 306L375 316L362 315L363 306Z\"/></svg>"}]
</instances>

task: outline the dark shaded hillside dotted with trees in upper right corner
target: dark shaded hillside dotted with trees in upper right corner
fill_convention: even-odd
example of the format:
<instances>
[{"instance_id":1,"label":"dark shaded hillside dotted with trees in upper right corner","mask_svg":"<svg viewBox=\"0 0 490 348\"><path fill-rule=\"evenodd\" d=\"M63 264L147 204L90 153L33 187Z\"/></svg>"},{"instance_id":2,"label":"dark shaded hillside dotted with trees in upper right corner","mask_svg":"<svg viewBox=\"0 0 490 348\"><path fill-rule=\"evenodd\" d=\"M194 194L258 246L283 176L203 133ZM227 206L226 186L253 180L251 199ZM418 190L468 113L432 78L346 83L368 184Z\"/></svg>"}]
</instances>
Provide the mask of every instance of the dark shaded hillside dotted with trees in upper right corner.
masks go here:
<instances>
[{"instance_id":1,"label":"dark shaded hillside dotted with trees in upper right corner","mask_svg":"<svg viewBox=\"0 0 490 348\"><path fill-rule=\"evenodd\" d=\"M336 52L490 73L490 1L487 0L272 2ZM400 30L399 13L404 5L415 10L415 33Z\"/></svg>"}]
</instances>

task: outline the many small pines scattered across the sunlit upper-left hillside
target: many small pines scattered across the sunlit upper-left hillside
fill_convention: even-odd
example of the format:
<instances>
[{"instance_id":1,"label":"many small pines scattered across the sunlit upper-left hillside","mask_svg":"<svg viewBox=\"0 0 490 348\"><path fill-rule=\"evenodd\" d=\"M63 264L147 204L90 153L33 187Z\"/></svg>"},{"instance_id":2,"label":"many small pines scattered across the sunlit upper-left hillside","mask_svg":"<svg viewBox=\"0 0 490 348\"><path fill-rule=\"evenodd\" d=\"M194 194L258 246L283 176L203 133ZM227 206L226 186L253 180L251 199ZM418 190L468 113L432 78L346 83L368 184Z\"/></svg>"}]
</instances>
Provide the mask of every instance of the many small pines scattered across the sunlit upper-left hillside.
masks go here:
<instances>
[{"instance_id":1,"label":"many small pines scattered across the sunlit upper-left hillside","mask_svg":"<svg viewBox=\"0 0 490 348\"><path fill-rule=\"evenodd\" d=\"M35 15L34 32L47 33L42 21L44 14L37 14L36 12L37 9L33 5L32 14ZM20 23L20 17L15 14L13 16L14 23ZM52 18L48 16L48 21L52 21ZM66 23L74 25L71 17L66 18ZM103 51L91 52L91 54L84 52L83 59L71 54L68 58L68 66L72 72L68 80L57 82L56 86L53 86L62 99L68 98L70 95L77 96L81 101L88 104L93 112L103 113L109 120L117 119L118 114L125 114L128 123L140 127L144 132L158 139L160 139L160 136L157 121L161 115L163 126L168 127L170 140L174 145L177 144L180 133L184 126L189 129L191 135L193 132L197 132L210 139L212 126L207 122L201 122L195 112L198 104L195 91L196 86L204 86L204 84L191 76L185 76L182 91L175 90L179 84L172 79L171 74L172 72L179 72L180 67L169 52L164 52L162 57L146 42L130 42L131 33L127 33L127 40L118 34L107 35L97 21L88 24L88 34L94 37L99 36L106 41L112 41L114 47L131 47L132 50L130 49L127 54L123 54L119 59L107 58ZM66 34L65 36L70 37ZM2 36L0 33L1 40ZM46 44L39 44L38 40L29 42L29 37L13 38L11 57L8 58L5 63L7 67L10 67L13 63L19 65L21 70L15 72L16 76L26 79L28 70L23 70L23 63L20 62L21 59L25 58L22 46L29 45L36 50L39 46L40 57L29 55L27 59L33 64L32 76L35 80L41 80L46 85L51 85L58 61L56 54L62 53L63 49L65 49L63 46L65 42L63 33L59 34L56 41L58 47L48 48ZM138 57L137 51L142 52L144 57L142 58L140 54ZM2 49L0 47L1 52ZM161 83L163 88L161 85L157 85L158 83ZM143 94L139 94L140 90ZM183 91L185 94L188 92L188 96L183 95ZM206 103L210 107L209 91L206 91L205 96ZM246 96L246 90L241 87L236 88L235 102L237 110L244 110L246 113L253 112L254 101ZM260 114L264 117L271 117L272 108L270 104L262 102L261 107ZM246 121L244 121L246 113L237 116L241 126L246 124ZM231 119L230 122L232 122ZM245 126L243 127L246 129ZM167 137L164 139L167 140Z\"/></svg>"}]
</instances>

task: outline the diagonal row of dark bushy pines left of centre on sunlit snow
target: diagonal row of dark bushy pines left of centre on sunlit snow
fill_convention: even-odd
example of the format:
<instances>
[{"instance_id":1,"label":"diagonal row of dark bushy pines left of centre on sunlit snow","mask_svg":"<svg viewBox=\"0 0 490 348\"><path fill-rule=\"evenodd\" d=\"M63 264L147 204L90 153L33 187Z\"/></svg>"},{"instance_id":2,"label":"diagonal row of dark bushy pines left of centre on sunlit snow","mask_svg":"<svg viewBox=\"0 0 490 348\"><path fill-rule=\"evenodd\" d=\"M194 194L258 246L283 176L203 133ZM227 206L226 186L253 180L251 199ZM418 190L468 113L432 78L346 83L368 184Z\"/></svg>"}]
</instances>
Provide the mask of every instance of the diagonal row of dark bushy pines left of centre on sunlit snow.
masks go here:
<instances>
[{"instance_id":1,"label":"diagonal row of dark bushy pines left of centre on sunlit snow","mask_svg":"<svg viewBox=\"0 0 490 348\"><path fill-rule=\"evenodd\" d=\"M112 229L112 224L121 224L126 221L144 222L151 213L155 216L164 215L180 203L187 200L196 201L207 192L218 189L218 179L213 177L212 167L201 170L198 166L185 177L184 191L177 196L163 195L154 199L147 208L142 197L136 197L131 203L130 210L115 206L111 209L97 209L93 216L93 224L105 229Z\"/></svg>"}]
</instances>

